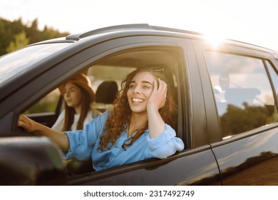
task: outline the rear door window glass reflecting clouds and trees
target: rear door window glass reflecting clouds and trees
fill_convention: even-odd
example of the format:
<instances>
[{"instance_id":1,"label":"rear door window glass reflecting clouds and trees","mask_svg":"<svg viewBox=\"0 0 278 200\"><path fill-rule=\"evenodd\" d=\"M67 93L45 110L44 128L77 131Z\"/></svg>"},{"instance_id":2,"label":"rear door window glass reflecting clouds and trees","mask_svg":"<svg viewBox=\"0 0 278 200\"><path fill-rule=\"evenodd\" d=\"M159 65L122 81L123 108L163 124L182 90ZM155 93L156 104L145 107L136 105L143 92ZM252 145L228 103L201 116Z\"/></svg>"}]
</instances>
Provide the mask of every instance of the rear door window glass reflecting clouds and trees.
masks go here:
<instances>
[{"instance_id":1,"label":"rear door window glass reflecting clouds and trees","mask_svg":"<svg viewBox=\"0 0 278 200\"><path fill-rule=\"evenodd\" d=\"M275 122L274 93L261 59L206 51L223 137Z\"/></svg>"}]
</instances>

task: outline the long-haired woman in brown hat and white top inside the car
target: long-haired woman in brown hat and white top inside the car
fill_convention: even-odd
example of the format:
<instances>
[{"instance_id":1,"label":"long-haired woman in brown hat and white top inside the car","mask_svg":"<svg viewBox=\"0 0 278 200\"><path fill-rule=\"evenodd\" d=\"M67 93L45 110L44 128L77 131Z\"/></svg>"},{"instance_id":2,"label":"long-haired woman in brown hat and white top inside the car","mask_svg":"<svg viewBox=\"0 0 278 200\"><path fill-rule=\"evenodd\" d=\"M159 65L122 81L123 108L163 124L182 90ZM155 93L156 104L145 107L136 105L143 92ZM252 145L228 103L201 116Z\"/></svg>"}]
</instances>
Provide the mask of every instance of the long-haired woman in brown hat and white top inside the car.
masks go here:
<instances>
[{"instance_id":1,"label":"long-haired woman in brown hat and white top inside the car","mask_svg":"<svg viewBox=\"0 0 278 200\"><path fill-rule=\"evenodd\" d=\"M96 95L91 88L91 80L85 74L78 74L58 87L63 95L65 109L61 111L51 127L57 131L76 131L91 122L100 111L91 108Z\"/></svg>"}]
</instances>

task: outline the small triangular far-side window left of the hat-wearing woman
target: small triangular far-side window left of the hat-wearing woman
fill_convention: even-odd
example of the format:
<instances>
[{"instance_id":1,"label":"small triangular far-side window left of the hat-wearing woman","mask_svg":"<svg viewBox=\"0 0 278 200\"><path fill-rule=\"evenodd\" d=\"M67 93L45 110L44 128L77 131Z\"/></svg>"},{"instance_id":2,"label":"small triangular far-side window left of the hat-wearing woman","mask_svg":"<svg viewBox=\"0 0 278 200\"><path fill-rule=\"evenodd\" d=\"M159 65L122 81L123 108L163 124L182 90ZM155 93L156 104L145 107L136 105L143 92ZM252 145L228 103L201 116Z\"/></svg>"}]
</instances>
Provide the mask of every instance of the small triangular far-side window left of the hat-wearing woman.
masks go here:
<instances>
[{"instance_id":1,"label":"small triangular far-side window left of the hat-wearing woman","mask_svg":"<svg viewBox=\"0 0 278 200\"><path fill-rule=\"evenodd\" d=\"M55 112L58 104L60 92L58 89L51 91L40 101L38 101L34 106L31 106L24 114L39 114L39 113L48 113Z\"/></svg>"}]
</instances>

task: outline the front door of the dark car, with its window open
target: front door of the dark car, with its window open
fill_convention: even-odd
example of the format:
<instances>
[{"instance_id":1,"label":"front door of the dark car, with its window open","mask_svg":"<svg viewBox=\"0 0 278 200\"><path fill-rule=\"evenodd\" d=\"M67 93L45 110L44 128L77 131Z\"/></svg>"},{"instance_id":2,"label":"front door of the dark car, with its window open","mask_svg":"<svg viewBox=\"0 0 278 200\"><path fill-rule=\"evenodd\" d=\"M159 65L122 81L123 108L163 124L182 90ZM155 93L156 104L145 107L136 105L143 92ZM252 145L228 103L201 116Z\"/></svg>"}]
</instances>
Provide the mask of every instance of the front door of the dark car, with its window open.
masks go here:
<instances>
[{"instance_id":1,"label":"front door of the dark car, with its window open","mask_svg":"<svg viewBox=\"0 0 278 200\"><path fill-rule=\"evenodd\" d=\"M204 105L202 97L199 95L201 90L200 79L197 79L198 71L196 70L195 54L192 51L190 39L142 36L130 38L129 40L127 42L125 39L125 42L122 41L121 46L115 46L109 52L103 52L101 57L109 59L113 55L128 54L131 51L150 51L153 48L156 51L160 51L160 49L165 51L167 49L171 56L176 55L174 59L177 61L177 66L173 68L172 73L175 74L175 79L177 79L177 102L179 106L177 136L184 140L186 144L185 150L170 156L168 159L150 159L103 171L93 171L88 174L72 176L69 184L220 184L221 179L215 156L208 145L205 124L202 124L205 123L205 116L203 116L204 112L200 110L200 107ZM118 41L118 39L115 41ZM99 46L102 45L99 44ZM101 47L98 49L101 49ZM167 55L164 56L167 57ZM101 61L104 62L105 59L101 59ZM138 59L140 60L140 58ZM93 63L97 64L98 62ZM192 100L192 96L194 96L194 100ZM194 114L191 112L193 106L199 108L199 110L194 110ZM194 141L192 141L193 139Z\"/></svg>"}]
</instances>

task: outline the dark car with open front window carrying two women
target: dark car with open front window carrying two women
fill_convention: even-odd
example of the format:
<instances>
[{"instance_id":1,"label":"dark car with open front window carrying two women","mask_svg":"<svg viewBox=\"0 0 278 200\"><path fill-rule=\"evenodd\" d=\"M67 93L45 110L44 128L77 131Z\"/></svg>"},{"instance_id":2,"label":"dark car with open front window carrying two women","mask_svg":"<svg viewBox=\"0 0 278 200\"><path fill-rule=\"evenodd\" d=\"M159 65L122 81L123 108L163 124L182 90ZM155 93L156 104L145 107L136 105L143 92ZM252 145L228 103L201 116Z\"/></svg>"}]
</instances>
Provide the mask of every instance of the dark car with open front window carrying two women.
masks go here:
<instances>
[{"instance_id":1,"label":"dark car with open front window carrying two women","mask_svg":"<svg viewBox=\"0 0 278 200\"><path fill-rule=\"evenodd\" d=\"M51 127L63 109L57 87L81 72L99 96L93 106L110 109L115 92L105 83L120 89L142 66L163 69L175 96L185 149L173 156L94 171L17 126L26 114ZM277 51L148 24L30 44L0 58L0 184L278 185L277 74Z\"/></svg>"}]
</instances>

